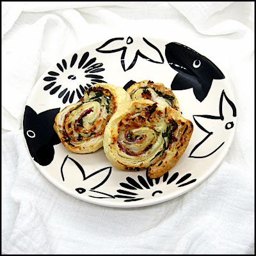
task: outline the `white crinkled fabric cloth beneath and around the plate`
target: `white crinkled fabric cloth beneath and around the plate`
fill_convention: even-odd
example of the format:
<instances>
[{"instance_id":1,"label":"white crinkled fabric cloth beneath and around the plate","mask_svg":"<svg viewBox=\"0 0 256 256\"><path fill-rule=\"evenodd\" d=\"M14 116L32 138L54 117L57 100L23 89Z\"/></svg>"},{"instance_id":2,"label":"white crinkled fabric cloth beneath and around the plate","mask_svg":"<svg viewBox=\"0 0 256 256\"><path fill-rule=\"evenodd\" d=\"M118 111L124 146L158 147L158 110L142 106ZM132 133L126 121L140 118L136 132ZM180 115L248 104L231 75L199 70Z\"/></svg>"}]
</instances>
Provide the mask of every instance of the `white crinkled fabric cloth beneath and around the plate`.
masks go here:
<instances>
[{"instance_id":1,"label":"white crinkled fabric cloth beneath and around the plate","mask_svg":"<svg viewBox=\"0 0 256 256\"><path fill-rule=\"evenodd\" d=\"M216 172L185 195L136 209L88 204L54 187L22 131L29 93L55 60L124 33L207 52L237 106L234 141ZM254 2L2 2L2 64L2 253L255 252Z\"/></svg>"}]
</instances>

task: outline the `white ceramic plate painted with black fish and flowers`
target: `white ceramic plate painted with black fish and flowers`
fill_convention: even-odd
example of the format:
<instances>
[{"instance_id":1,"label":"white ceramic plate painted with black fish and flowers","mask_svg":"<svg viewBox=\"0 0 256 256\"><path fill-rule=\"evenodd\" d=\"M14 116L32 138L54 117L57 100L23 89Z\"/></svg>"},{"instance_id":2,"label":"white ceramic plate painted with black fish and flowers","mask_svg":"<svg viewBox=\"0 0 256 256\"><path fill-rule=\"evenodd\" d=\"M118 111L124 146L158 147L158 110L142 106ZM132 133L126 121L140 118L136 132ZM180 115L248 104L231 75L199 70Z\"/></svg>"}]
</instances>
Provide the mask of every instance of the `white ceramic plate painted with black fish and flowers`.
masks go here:
<instances>
[{"instance_id":1,"label":"white ceramic plate painted with black fish and flowers","mask_svg":"<svg viewBox=\"0 0 256 256\"><path fill-rule=\"evenodd\" d=\"M118 170L103 148L68 151L54 132L54 117L95 83L127 88L149 79L172 88L194 131L186 152L163 177ZM109 207L141 207L175 198L203 182L225 157L236 129L234 95L212 61L186 45L154 38L109 38L61 58L35 84L24 113L33 162L69 195Z\"/></svg>"}]
</instances>

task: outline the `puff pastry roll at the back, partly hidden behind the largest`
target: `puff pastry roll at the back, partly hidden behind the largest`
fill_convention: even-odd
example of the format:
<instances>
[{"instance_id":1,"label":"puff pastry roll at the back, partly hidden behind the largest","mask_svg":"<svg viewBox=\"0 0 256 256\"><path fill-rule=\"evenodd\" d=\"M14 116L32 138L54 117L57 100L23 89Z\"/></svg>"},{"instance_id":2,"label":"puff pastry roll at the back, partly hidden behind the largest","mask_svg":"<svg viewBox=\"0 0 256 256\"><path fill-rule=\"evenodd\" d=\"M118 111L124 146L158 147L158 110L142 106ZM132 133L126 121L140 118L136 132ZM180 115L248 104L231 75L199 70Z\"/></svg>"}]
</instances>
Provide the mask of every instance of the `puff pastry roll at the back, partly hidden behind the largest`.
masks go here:
<instances>
[{"instance_id":1,"label":"puff pastry roll at the back, partly hidden behind the largest","mask_svg":"<svg viewBox=\"0 0 256 256\"><path fill-rule=\"evenodd\" d=\"M172 89L166 88L164 84L143 80L132 84L127 89L127 92L132 100L148 99L180 111L177 97L172 92Z\"/></svg>"}]
</instances>

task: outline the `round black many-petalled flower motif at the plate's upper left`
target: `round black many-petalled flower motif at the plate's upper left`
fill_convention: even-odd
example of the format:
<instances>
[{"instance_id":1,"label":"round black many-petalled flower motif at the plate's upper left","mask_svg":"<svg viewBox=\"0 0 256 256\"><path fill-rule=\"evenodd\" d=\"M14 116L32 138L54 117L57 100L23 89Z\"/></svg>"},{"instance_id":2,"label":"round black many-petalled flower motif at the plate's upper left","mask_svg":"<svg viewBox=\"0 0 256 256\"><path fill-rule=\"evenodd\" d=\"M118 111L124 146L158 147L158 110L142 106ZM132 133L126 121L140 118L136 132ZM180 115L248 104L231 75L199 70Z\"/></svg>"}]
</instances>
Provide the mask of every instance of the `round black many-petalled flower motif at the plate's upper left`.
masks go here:
<instances>
[{"instance_id":1,"label":"round black many-petalled flower motif at the plate's upper left","mask_svg":"<svg viewBox=\"0 0 256 256\"><path fill-rule=\"evenodd\" d=\"M56 70L48 72L49 76L44 77L44 81L47 82L44 90L50 90L51 95L58 92L58 97L63 97L64 104L67 101L71 104L75 94L81 99L85 90L92 84L106 83L102 80L103 76L95 74L105 70L102 67L103 63L95 63L96 58L89 60L88 57L89 52L84 52L81 58L75 53L68 63L64 59L57 63Z\"/></svg>"}]
</instances>

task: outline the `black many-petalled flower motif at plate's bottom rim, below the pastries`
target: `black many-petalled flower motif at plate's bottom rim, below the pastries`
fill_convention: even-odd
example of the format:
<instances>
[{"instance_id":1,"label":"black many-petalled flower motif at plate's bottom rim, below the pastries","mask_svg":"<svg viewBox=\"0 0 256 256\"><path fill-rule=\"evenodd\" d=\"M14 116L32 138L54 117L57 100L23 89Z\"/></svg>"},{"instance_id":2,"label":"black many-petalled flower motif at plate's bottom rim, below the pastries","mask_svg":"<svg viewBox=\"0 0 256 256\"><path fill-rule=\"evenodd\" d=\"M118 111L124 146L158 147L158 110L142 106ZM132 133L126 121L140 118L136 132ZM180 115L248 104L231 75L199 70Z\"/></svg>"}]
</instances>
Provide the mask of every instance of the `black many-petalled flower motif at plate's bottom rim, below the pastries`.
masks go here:
<instances>
[{"instance_id":1,"label":"black many-petalled flower motif at plate's bottom rim, below the pastries","mask_svg":"<svg viewBox=\"0 0 256 256\"><path fill-rule=\"evenodd\" d=\"M124 189L116 190L116 192L119 194L115 195L115 197L124 198L124 202L132 202L148 198L148 189L152 191L151 196L157 196L157 194L163 194L164 192L168 193L168 186L161 186L161 190L159 190L159 185L162 185L163 183L166 185L171 184L178 177L178 172L173 173L171 177L169 177L169 172L166 172L161 178L157 179L150 179L150 177L148 177L148 172L146 179L141 175L138 175L138 180L127 177L127 182L120 182L120 186ZM185 180L188 180L189 177L191 177L191 173L187 173L186 175L180 177L175 184L178 187L183 187L196 181L196 179L192 179L184 182Z\"/></svg>"}]
</instances>

